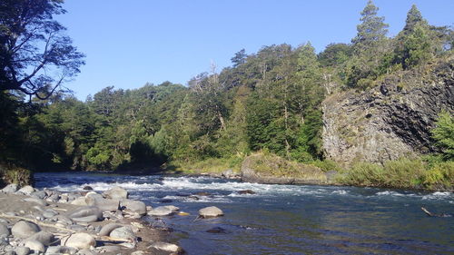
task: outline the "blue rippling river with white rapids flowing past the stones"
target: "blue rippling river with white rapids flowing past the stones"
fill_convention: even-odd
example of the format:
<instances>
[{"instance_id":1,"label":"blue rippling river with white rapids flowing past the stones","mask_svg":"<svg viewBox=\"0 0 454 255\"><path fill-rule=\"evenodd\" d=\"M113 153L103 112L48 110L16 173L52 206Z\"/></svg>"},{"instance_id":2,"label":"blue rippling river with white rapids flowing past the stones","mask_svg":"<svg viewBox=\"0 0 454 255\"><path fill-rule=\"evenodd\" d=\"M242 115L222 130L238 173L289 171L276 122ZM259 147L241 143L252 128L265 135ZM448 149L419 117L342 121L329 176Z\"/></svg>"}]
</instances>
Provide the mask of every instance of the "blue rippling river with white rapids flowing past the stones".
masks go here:
<instances>
[{"instance_id":1,"label":"blue rippling river with white rapids flowing past the stones","mask_svg":"<svg viewBox=\"0 0 454 255\"><path fill-rule=\"evenodd\" d=\"M147 220L172 228L173 241L188 254L454 254L454 217L420 210L454 214L451 192L80 172L36 173L35 181L60 191L118 185L148 205L178 206L191 215ZM256 193L238 193L243 190ZM195 200L190 195L197 192L210 195ZM199 209L212 205L225 216L194 221ZM222 231L207 232L213 228Z\"/></svg>"}]
</instances>

